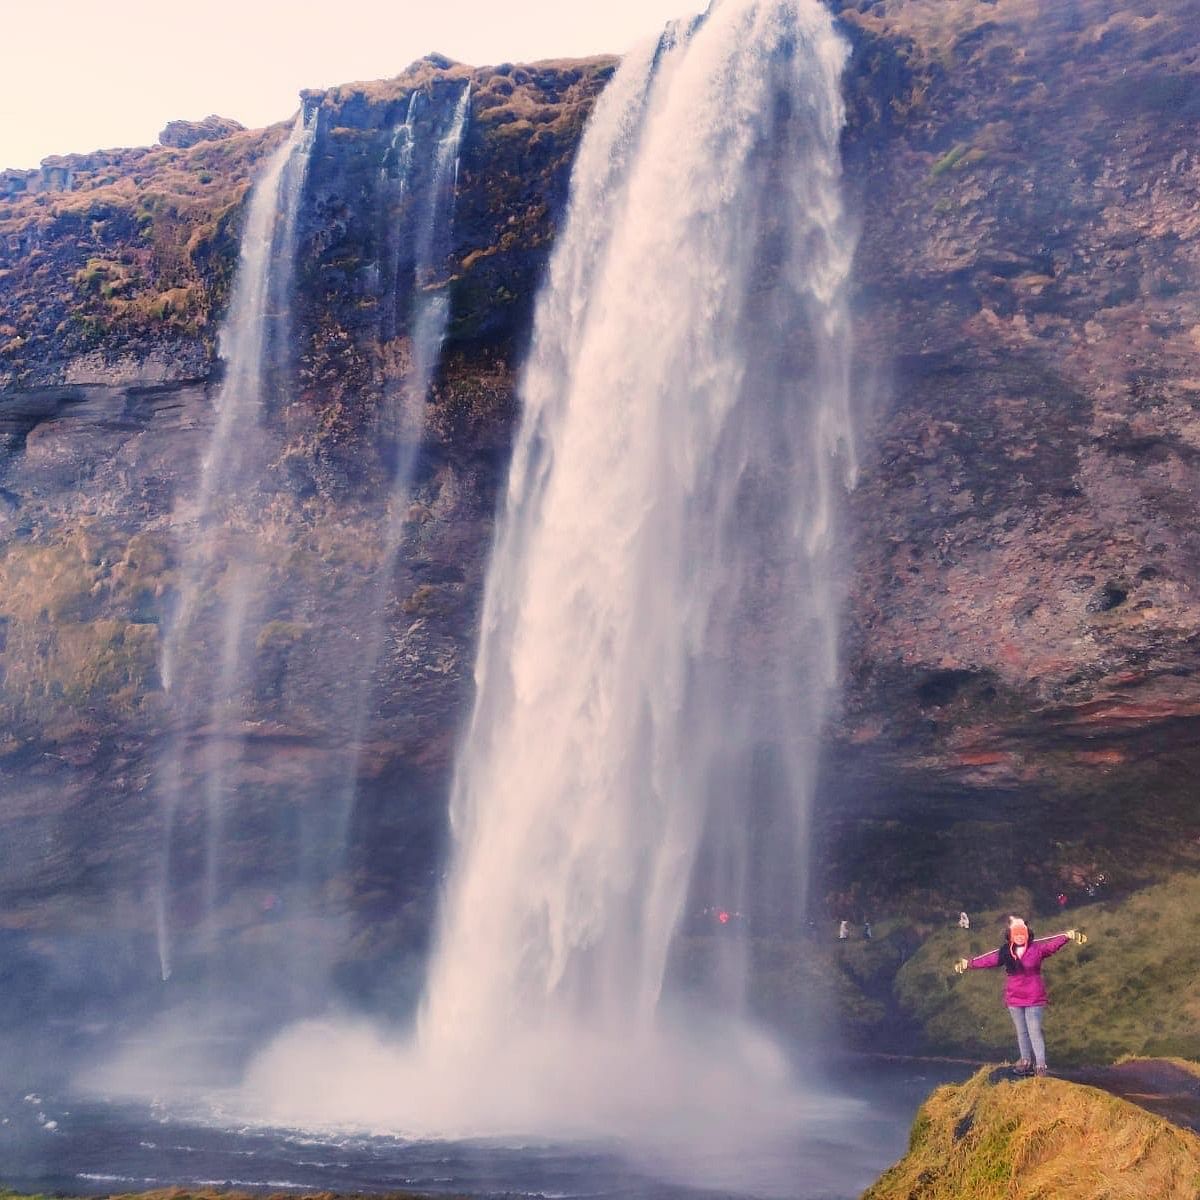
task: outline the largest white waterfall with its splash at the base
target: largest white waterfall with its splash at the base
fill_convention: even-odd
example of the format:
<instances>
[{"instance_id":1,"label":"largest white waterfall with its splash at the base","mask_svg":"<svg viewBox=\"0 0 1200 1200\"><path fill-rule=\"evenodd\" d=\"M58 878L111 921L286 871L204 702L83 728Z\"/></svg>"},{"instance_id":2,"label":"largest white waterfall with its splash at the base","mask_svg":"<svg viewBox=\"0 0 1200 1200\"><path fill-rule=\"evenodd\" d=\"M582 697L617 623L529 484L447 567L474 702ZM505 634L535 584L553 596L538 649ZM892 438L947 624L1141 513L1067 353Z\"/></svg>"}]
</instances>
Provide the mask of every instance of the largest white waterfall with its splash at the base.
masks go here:
<instances>
[{"instance_id":1,"label":"largest white waterfall with its splash at the base","mask_svg":"<svg viewBox=\"0 0 1200 1200\"><path fill-rule=\"evenodd\" d=\"M698 996L668 966L695 908L800 916L854 469L845 55L816 0L716 0L598 103L536 314L416 1039L301 1027L248 1080L274 1115L631 1136L794 1117L740 1016L742 943Z\"/></svg>"}]
</instances>

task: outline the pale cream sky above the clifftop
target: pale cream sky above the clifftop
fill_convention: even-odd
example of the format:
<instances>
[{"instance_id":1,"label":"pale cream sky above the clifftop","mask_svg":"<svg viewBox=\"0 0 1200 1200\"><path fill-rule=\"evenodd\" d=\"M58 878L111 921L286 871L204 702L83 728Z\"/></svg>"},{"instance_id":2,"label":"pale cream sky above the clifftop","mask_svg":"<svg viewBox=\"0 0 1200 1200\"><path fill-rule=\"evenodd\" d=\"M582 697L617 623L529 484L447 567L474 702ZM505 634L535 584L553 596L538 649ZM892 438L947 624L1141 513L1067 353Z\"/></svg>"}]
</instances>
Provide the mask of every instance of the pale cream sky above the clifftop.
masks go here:
<instances>
[{"instance_id":1,"label":"pale cream sky above the clifftop","mask_svg":"<svg viewBox=\"0 0 1200 1200\"><path fill-rule=\"evenodd\" d=\"M622 53L707 0L0 0L0 168L151 145L209 113L284 120L302 88Z\"/></svg>"}]
</instances>

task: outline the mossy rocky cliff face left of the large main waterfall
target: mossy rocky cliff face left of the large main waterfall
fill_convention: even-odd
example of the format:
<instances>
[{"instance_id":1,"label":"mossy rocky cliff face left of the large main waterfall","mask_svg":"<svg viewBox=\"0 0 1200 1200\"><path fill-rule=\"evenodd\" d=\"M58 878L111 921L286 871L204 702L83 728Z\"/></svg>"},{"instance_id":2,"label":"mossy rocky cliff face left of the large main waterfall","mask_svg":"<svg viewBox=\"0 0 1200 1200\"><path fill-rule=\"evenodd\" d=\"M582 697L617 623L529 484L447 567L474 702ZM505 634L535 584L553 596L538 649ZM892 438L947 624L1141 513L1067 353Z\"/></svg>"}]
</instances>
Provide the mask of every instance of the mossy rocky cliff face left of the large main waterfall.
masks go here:
<instances>
[{"instance_id":1,"label":"mossy rocky cliff face left of the large main waterfall","mask_svg":"<svg viewBox=\"0 0 1200 1200\"><path fill-rule=\"evenodd\" d=\"M277 892L286 881L272 875L268 846L280 824L344 788L359 704L346 664L374 624L385 637L354 768L356 850L330 886L374 918L398 913L401 941L419 936L427 913L403 914L433 892L516 371L575 146L612 66L470 71L426 60L388 83L304 96L317 133L300 214L293 382L271 401L272 463L234 505L236 527L257 526L265 547L254 584L264 620L236 728L173 727L158 670L182 586L180 509L215 421L216 331L245 197L284 130L107 156L77 169L70 187L0 208L7 923L148 929L168 754L179 755L187 797L175 916L194 922L196 793L204 763L233 737L245 752L230 880L256 876L263 896ZM386 163L414 94L432 121L467 84L454 245L426 284L449 289L449 332L424 428L413 428L397 407L412 313L392 300L412 250L389 244L412 217ZM415 484L395 574L379 589L383 498L406 454ZM232 528L218 554L229 551L228 565L206 581L214 593L232 586L238 536ZM241 904L222 917L230 928L260 922L253 901Z\"/></svg>"}]
</instances>

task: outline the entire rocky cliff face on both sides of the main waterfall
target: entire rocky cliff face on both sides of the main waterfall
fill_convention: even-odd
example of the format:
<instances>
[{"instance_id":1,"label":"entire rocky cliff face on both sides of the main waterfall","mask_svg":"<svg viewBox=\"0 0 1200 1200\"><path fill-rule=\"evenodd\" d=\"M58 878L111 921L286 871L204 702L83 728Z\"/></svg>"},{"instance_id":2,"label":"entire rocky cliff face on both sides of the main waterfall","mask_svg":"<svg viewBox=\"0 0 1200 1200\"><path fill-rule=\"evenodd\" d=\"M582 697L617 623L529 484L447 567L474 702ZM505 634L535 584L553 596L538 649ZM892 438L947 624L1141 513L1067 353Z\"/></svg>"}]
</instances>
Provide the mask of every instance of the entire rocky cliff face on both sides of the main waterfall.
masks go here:
<instances>
[{"instance_id":1,"label":"entire rocky cliff face on both sides of the main waterfall","mask_svg":"<svg viewBox=\"0 0 1200 1200\"><path fill-rule=\"evenodd\" d=\"M864 439L821 887L874 910L1099 864L1133 882L1195 833L1200 2L838 7ZM389 914L430 893L515 373L612 67L431 59L304 97L318 132L271 484L289 499L266 536L278 577L312 586L257 642L246 870L278 814L331 786L330 664L362 616L389 455L414 436L388 407L412 341L380 268L380 168L414 90L434 112L469 80L450 335L380 613L373 834L349 880ZM84 898L97 924L145 922L174 504L214 419L245 194L286 133L210 132L227 136L52 164L58 190L0 202L10 923L78 920ZM216 736L190 731L191 758Z\"/></svg>"}]
</instances>

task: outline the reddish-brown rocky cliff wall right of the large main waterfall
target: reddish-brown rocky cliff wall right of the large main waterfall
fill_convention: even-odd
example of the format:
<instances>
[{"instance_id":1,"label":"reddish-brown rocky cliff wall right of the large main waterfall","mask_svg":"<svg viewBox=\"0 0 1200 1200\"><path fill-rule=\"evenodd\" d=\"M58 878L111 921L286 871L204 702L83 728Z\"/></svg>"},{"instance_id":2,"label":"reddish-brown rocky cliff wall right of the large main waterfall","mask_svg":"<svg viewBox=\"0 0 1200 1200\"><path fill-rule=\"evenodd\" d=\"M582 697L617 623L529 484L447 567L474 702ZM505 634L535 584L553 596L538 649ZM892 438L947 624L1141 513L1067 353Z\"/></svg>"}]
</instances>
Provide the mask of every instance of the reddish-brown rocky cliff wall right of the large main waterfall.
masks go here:
<instances>
[{"instance_id":1,"label":"reddish-brown rocky cliff wall right of the large main waterfall","mask_svg":"<svg viewBox=\"0 0 1200 1200\"><path fill-rule=\"evenodd\" d=\"M931 870L946 907L1046 898L1097 854L1128 883L1188 840L1200 766L1200 7L844 18L881 115L847 144L865 434L826 794L862 821L832 836L872 846L870 906Z\"/></svg>"}]
</instances>

